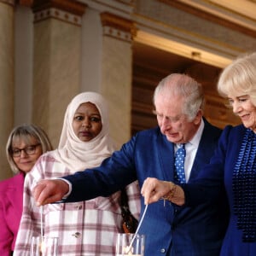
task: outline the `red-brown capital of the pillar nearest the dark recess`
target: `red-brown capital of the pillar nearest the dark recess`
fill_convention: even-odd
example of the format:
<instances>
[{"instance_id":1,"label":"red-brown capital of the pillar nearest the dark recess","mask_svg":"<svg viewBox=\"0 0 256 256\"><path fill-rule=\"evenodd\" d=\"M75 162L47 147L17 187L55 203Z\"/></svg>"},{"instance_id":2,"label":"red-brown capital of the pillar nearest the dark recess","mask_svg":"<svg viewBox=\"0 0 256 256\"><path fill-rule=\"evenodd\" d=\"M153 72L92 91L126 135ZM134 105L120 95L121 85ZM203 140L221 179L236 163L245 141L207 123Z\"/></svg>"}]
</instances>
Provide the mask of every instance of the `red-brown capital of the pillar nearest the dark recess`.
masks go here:
<instances>
[{"instance_id":1,"label":"red-brown capital of the pillar nearest the dark recess","mask_svg":"<svg viewBox=\"0 0 256 256\"><path fill-rule=\"evenodd\" d=\"M132 20L113 15L108 12L101 14L103 34L109 37L118 38L131 42L136 36L137 29Z\"/></svg>"}]
</instances>

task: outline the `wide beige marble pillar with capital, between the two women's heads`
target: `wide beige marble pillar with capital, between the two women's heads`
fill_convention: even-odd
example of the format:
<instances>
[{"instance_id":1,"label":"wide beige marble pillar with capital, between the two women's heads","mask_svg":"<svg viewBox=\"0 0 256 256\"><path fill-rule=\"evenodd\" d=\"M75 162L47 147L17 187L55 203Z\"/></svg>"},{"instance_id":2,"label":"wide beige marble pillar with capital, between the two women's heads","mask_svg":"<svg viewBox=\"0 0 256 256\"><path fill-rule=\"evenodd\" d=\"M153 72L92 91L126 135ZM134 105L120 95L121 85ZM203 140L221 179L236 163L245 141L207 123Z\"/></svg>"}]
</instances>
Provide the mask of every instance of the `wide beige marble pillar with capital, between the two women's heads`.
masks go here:
<instances>
[{"instance_id":1,"label":"wide beige marble pillar with capital, between the two women's heads","mask_svg":"<svg viewBox=\"0 0 256 256\"><path fill-rule=\"evenodd\" d=\"M86 5L35 0L32 121L58 145L68 102L79 93L81 17Z\"/></svg>"}]
</instances>

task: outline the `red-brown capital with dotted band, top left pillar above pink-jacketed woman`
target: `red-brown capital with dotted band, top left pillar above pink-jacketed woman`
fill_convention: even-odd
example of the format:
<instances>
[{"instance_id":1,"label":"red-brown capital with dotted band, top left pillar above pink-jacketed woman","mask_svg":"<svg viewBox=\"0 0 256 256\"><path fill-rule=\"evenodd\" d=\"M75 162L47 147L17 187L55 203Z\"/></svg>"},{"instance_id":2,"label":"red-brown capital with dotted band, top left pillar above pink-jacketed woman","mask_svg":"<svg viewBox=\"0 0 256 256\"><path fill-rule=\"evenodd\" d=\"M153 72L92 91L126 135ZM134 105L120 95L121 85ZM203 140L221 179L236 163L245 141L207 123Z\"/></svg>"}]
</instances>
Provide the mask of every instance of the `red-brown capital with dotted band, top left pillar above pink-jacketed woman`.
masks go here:
<instances>
[{"instance_id":1,"label":"red-brown capital with dotted band, top left pillar above pink-jacketed woman","mask_svg":"<svg viewBox=\"0 0 256 256\"><path fill-rule=\"evenodd\" d=\"M55 18L78 26L81 26L86 7L73 0L34 0L32 4L35 22Z\"/></svg>"}]
</instances>

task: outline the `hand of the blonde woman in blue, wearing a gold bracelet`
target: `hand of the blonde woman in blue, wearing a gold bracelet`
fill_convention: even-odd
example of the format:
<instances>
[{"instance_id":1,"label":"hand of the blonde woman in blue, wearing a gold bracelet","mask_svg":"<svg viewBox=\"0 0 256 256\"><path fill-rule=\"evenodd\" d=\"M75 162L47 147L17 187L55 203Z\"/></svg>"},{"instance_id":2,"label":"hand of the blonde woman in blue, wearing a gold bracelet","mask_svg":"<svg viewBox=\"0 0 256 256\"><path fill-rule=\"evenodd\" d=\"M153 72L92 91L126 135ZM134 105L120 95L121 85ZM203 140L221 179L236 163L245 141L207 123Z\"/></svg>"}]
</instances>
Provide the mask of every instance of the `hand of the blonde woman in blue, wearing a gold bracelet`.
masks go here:
<instances>
[{"instance_id":1,"label":"hand of the blonde woman in blue, wearing a gold bracelet","mask_svg":"<svg viewBox=\"0 0 256 256\"><path fill-rule=\"evenodd\" d=\"M170 183L154 177L147 177L143 183L142 195L145 205L159 201L170 192Z\"/></svg>"}]
</instances>

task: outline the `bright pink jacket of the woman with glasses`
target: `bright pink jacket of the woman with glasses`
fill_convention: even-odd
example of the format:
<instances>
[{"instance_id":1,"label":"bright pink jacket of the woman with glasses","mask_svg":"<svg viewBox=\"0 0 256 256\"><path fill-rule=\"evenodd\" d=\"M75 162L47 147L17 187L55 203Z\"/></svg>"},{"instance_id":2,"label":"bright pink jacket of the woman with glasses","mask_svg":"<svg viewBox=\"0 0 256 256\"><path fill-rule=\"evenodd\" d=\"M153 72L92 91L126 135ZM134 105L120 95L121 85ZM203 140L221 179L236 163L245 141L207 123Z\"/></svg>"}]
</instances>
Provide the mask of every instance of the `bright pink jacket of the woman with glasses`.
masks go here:
<instances>
[{"instance_id":1,"label":"bright pink jacket of the woman with glasses","mask_svg":"<svg viewBox=\"0 0 256 256\"><path fill-rule=\"evenodd\" d=\"M24 174L0 182L0 255L9 256L15 248L22 213Z\"/></svg>"}]
</instances>

